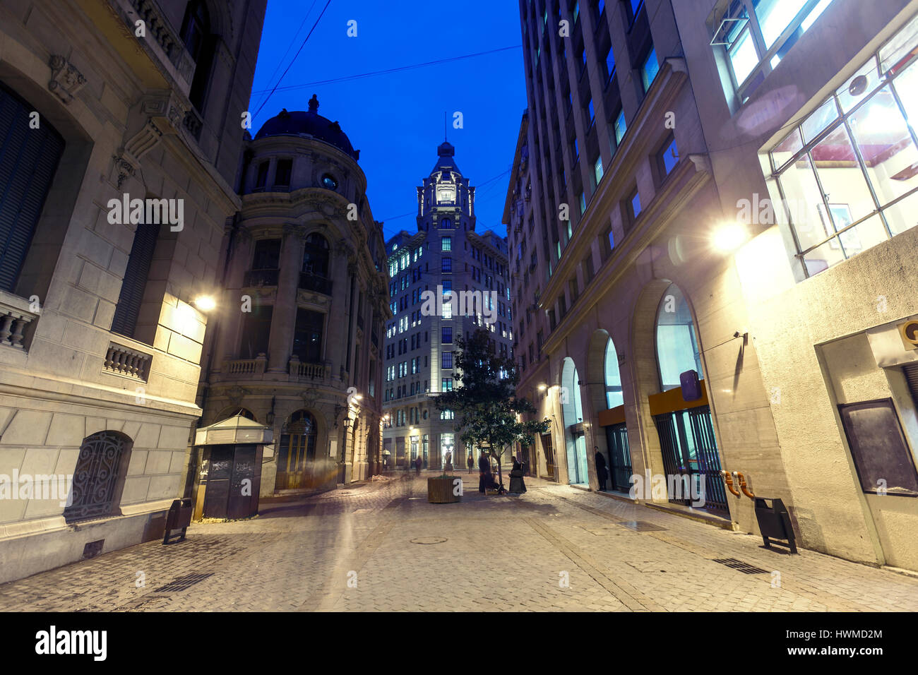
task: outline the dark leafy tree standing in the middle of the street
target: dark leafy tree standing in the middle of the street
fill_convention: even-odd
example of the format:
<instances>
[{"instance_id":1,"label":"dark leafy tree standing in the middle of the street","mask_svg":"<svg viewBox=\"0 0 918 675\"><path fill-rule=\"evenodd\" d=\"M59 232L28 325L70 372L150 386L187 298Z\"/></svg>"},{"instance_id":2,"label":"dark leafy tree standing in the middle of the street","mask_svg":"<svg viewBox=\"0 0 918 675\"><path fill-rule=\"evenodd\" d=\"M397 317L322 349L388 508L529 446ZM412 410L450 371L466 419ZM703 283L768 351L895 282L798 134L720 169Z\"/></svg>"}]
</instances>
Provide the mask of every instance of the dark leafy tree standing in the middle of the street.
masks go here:
<instances>
[{"instance_id":1,"label":"dark leafy tree standing in the middle of the street","mask_svg":"<svg viewBox=\"0 0 918 675\"><path fill-rule=\"evenodd\" d=\"M534 434L545 433L549 420L521 422L521 416L536 412L529 399L516 395L520 381L516 363L498 354L490 332L477 329L467 340L456 339L453 365L459 387L444 391L434 404L439 411L453 411L453 429L466 447L487 444L488 454L498 462L498 480L503 486L500 458L512 444L532 444Z\"/></svg>"}]
</instances>

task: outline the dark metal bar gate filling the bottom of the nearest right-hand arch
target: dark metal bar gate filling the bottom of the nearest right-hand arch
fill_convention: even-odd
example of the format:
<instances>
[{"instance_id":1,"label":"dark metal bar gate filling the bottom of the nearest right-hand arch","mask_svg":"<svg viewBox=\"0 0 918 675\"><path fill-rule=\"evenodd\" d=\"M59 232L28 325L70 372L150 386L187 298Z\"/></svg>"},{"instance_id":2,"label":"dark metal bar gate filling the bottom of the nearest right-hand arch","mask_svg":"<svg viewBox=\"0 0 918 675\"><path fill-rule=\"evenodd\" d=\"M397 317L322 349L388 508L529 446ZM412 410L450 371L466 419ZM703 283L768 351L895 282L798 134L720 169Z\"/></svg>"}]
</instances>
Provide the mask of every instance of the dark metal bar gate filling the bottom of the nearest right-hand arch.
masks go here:
<instances>
[{"instance_id":1,"label":"dark metal bar gate filling the bottom of the nearest right-hand arch","mask_svg":"<svg viewBox=\"0 0 918 675\"><path fill-rule=\"evenodd\" d=\"M690 506L703 494L705 508L727 511L711 408L666 412L656 415L654 422L660 435L669 501ZM681 487L675 494L674 484Z\"/></svg>"}]
</instances>

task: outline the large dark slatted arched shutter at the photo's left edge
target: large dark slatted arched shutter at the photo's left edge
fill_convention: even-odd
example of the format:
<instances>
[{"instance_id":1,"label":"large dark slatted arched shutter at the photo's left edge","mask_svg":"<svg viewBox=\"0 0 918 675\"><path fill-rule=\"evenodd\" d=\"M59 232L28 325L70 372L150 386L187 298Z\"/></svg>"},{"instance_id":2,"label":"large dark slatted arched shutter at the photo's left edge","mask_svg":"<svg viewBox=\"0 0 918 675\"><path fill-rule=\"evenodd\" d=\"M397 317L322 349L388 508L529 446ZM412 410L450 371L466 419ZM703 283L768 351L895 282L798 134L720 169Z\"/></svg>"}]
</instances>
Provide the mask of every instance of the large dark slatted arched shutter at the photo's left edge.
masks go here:
<instances>
[{"instance_id":1,"label":"large dark slatted arched shutter at the photo's left edge","mask_svg":"<svg viewBox=\"0 0 918 675\"><path fill-rule=\"evenodd\" d=\"M35 108L0 85L0 288L13 292L64 142Z\"/></svg>"}]
</instances>

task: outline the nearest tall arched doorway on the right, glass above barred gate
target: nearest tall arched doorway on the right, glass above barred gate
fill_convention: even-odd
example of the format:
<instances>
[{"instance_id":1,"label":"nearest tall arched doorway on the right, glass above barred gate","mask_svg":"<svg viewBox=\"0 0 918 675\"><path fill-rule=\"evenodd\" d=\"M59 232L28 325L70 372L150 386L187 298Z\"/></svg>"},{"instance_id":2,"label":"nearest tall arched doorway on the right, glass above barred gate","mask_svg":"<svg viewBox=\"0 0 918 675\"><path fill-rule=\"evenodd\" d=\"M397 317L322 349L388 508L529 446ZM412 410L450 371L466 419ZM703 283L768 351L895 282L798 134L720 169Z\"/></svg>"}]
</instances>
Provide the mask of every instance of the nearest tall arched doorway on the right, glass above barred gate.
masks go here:
<instances>
[{"instance_id":1,"label":"nearest tall arched doorway on the right, glass above barred gate","mask_svg":"<svg viewBox=\"0 0 918 675\"><path fill-rule=\"evenodd\" d=\"M679 390L678 395L651 397L669 501L727 511L695 321L675 284L666 287L657 307L655 347L660 391ZM685 399L689 393L680 376L691 371L700 380L700 391L697 398Z\"/></svg>"}]
</instances>

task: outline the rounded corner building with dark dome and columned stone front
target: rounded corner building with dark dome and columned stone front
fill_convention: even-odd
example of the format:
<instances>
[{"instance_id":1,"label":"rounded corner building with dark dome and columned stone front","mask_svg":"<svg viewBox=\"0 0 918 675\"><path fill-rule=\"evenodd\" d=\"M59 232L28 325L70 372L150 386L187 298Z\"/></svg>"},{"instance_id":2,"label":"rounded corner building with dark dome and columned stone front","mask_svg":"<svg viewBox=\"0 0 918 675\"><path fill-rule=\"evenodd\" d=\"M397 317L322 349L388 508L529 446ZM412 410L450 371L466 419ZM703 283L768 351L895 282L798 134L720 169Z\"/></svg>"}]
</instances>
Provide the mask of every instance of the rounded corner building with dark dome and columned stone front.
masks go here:
<instances>
[{"instance_id":1,"label":"rounded corner building with dark dome and columned stone front","mask_svg":"<svg viewBox=\"0 0 918 675\"><path fill-rule=\"evenodd\" d=\"M261 496L380 469L386 245L359 151L318 109L313 96L308 111L281 110L248 143L201 393L202 427L241 415L274 431Z\"/></svg>"}]
</instances>

